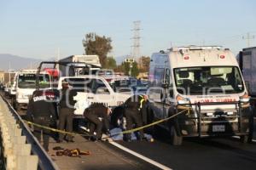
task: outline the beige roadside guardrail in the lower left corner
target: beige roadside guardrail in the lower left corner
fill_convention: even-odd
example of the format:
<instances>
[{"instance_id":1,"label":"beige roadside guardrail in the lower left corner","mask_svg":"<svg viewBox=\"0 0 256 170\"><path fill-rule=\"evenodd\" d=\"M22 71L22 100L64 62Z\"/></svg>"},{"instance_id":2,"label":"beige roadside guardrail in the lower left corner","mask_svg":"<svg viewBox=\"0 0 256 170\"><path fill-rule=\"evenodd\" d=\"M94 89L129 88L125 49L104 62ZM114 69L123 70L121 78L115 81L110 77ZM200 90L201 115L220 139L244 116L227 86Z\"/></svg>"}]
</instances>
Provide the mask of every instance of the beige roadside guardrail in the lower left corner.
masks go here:
<instances>
[{"instance_id":1,"label":"beige roadside guardrail in the lower left corner","mask_svg":"<svg viewBox=\"0 0 256 170\"><path fill-rule=\"evenodd\" d=\"M1 169L58 170L19 114L0 97Z\"/></svg>"}]
</instances>

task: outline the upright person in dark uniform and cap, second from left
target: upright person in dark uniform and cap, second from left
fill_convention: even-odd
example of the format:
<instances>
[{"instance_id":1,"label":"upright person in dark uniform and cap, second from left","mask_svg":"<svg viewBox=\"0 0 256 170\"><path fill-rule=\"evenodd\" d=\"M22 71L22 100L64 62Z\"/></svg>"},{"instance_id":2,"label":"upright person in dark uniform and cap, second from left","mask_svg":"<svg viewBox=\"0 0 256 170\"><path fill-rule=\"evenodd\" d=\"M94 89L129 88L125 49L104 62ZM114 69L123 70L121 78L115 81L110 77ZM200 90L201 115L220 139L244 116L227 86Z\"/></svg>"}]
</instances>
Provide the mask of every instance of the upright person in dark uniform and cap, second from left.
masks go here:
<instances>
[{"instance_id":1,"label":"upright person in dark uniform and cap, second from left","mask_svg":"<svg viewBox=\"0 0 256 170\"><path fill-rule=\"evenodd\" d=\"M69 133L73 132L73 105L75 104L73 97L76 93L69 88L69 84L66 81L62 82L61 100L59 103L59 129L66 130ZM66 126L65 126L66 124ZM65 137L64 133L59 133L58 143L61 143ZM66 135L67 142L73 142L73 136Z\"/></svg>"}]
</instances>

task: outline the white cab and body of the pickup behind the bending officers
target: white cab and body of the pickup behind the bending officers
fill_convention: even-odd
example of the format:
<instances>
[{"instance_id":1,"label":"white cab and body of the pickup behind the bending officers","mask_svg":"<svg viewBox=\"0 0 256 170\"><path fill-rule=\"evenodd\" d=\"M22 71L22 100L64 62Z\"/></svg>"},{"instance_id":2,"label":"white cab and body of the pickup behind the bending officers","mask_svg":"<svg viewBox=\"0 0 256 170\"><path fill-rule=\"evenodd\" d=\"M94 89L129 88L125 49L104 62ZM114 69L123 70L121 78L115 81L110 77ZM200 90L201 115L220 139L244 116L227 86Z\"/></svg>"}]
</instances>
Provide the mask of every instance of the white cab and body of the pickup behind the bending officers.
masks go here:
<instances>
[{"instance_id":1,"label":"white cab and body of the pickup behind the bending officers","mask_svg":"<svg viewBox=\"0 0 256 170\"><path fill-rule=\"evenodd\" d=\"M87 75L79 77L60 77L58 90L61 91L61 82L66 81L77 94L73 96L76 101L74 115L76 118L83 117L84 109L91 103L103 103L109 107L124 104L131 94L115 93L108 82L98 76ZM68 95L68 94L67 94Z\"/></svg>"}]
</instances>

